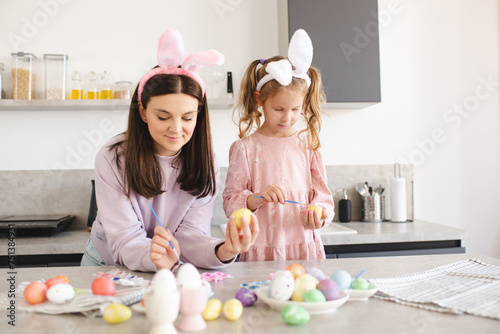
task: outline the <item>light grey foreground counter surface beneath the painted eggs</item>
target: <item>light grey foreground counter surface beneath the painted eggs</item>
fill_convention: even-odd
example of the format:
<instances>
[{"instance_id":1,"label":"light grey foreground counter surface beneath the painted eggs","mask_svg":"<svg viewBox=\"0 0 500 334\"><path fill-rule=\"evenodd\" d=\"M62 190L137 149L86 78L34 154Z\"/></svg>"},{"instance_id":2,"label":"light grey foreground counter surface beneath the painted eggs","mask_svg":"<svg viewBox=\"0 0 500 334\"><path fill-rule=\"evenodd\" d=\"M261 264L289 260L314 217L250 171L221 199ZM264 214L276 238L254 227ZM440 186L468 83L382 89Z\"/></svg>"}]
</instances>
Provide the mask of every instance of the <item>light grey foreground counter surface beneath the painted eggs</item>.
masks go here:
<instances>
[{"instance_id":1,"label":"light grey foreground counter surface beneath the painted eggs","mask_svg":"<svg viewBox=\"0 0 500 334\"><path fill-rule=\"evenodd\" d=\"M448 254L409 257L377 257L357 259L326 259L317 261L282 261L234 263L222 271L231 275L222 282L212 282L215 298L222 302L233 298L241 283L264 280L276 270L285 269L294 262L305 267L318 267L327 275L344 269L354 275L365 269L363 277L382 278L429 270L459 260L478 258L486 263L500 265L499 259L476 254ZM73 286L90 288L96 271L109 271L123 267L66 267L15 269L16 286L22 281L48 279L66 275ZM126 269L125 269L126 270ZM201 270L203 271L203 270ZM0 293L8 291L4 279L10 270L0 269ZM137 273L151 279L150 273ZM17 296L22 298L22 296ZM1 305L0 332L2 333L147 333L150 322L143 313L133 311L125 323L111 325L102 318L86 318L77 314L45 315L15 313L16 327L7 324L7 311ZM278 311L271 310L262 301L244 309L243 316L235 322L221 318L208 322L205 333L498 333L500 321L471 315L451 315L431 312L390 301L370 298L364 302L347 302L334 313L312 315L301 326L287 326Z\"/></svg>"}]
</instances>

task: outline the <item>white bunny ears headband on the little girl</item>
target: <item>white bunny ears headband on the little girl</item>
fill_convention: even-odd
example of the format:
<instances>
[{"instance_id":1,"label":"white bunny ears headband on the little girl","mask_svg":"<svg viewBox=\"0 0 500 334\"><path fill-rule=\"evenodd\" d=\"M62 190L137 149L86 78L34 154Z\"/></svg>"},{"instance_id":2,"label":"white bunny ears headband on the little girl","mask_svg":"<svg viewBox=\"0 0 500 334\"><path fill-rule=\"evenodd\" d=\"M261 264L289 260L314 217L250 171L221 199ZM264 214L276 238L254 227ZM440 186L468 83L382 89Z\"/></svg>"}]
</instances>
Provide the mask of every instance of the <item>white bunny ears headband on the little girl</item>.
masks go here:
<instances>
[{"instance_id":1,"label":"white bunny ears headband on the little girl","mask_svg":"<svg viewBox=\"0 0 500 334\"><path fill-rule=\"evenodd\" d=\"M288 46L288 60L282 59L267 64L267 74L259 80L256 90L259 92L271 80L278 81L282 86L288 86L292 82L292 77L305 80L309 87L311 79L307 71L311 67L312 51L311 38L306 31L304 29L295 31ZM292 70L292 65L295 70Z\"/></svg>"}]
</instances>

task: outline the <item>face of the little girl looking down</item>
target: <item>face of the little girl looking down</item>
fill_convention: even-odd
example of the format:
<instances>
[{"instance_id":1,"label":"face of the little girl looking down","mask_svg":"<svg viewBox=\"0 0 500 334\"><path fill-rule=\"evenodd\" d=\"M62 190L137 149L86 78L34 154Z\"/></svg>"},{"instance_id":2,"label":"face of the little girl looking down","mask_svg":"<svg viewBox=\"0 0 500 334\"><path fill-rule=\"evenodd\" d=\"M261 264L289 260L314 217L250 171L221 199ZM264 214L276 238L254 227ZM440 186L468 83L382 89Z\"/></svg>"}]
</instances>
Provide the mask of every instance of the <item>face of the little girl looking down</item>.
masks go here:
<instances>
[{"instance_id":1,"label":"face of the little girl looking down","mask_svg":"<svg viewBox=\"0 0 500 334\"><path fill-rule=\"evenodd\" d=\"M259 92L255 98L264 111L264 123L259 132L269 137L289 137L296 130L293 125L302 112L304 94L299 91L280 90L261 103Z\"/></svg>"}]
</instances>

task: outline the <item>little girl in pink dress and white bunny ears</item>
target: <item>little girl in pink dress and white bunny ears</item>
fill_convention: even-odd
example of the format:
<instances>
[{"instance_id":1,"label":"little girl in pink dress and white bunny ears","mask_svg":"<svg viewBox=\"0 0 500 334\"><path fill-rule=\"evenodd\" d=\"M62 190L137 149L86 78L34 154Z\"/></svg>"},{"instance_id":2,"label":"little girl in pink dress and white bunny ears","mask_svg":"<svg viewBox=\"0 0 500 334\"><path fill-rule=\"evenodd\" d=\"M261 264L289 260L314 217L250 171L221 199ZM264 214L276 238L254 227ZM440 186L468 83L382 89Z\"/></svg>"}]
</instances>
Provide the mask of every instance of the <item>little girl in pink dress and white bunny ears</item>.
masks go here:
<instances>
[{"instance_id":1,"label":"little girl in pink dress and white bunny ears","mask_svg":"<svg viewBox=\"0 0 500 334\"><path fill-rule=\"evenodd\" d=\"M318 229L332 221L334 204L319 151L324 93L311 61L311 40L298 30L288 59L256 60L243 77L237 107L241 139L229 152L224 210L229 216L246 207L261 227L240 261L325 258ZM307 129L297 131L293 126L301 116ZM307 211L307 203L319 204L322 214Z\"/></svg>"}]
</instances>

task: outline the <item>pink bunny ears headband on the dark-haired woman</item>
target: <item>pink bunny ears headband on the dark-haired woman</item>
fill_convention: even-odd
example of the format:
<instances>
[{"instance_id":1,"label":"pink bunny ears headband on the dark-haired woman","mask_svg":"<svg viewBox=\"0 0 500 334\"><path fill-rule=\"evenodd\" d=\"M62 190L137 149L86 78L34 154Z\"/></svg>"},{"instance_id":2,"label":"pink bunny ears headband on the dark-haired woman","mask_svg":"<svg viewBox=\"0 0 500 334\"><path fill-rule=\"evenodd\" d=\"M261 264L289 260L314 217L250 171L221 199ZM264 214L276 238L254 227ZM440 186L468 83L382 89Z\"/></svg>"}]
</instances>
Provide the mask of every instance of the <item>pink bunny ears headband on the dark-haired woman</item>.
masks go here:
<instances>
[{"instance_id":1,"label":"pink bunny ears headband on the dark-haired woman","mask_svg":"<svg viewBox=\"0 0 500 334\"><path fill-rule=\"evenodd\" d=\"M158 74L185 75L196 81L205 95L205 85L196 73L203 66L217 66L224 63L224 55L216 50L199 51L184 58L184 42L181 34L173 29L167 30L158 44L158 65L139 82L137 99L141 102L144 85ZM181 67L179 67L181 65Z\"/></svg>"}]
</instances>

